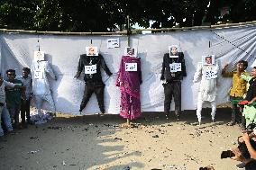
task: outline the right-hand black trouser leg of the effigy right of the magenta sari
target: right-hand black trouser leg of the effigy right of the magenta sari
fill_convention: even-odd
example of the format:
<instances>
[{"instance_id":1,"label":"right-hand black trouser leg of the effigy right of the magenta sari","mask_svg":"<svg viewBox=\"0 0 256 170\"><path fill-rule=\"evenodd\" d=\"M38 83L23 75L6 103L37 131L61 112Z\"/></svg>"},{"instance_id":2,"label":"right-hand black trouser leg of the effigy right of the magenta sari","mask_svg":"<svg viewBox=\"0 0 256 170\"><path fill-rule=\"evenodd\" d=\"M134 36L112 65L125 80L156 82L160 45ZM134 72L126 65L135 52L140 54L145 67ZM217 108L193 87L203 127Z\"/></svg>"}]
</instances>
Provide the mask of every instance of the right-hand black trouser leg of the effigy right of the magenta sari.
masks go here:
<instances>
[{"instance_id":1,"label":"right-hand black trouser leg of the effigy right of the magenta sari","mask_svg":"<svg viewBox=\"0 0 256 170\"><path fill-rule=\"evenodd\" d=\"M181 82L174 82L172 85L172 89L175 103L175 114L179 116L181 112Z\"/></svg>"}]
</instances>

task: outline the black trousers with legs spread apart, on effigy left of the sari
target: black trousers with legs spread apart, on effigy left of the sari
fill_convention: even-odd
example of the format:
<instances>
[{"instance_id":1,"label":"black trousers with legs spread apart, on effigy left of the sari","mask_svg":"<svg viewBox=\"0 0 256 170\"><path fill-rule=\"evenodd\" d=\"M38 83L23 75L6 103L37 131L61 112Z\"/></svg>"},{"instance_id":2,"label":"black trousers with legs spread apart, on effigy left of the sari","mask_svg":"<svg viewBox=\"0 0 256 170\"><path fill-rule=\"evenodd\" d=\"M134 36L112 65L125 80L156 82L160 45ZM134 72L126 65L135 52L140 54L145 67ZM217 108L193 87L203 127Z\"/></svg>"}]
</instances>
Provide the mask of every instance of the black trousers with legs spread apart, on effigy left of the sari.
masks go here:
<instances>
[{"instance_id":1,"label":"black trousers with legs spread apart, on effigy left of the sari","mask_svg":"<svg viewBox=\"0 0 256 170\"><path fill-rule=\"evenodd\" d=\"M105 85L103 82L87 82L79 111L82 112L82 110L86 107L92 94L95 93L100 112L105 112L104 87Z\"/></svg>"}]
</instances>

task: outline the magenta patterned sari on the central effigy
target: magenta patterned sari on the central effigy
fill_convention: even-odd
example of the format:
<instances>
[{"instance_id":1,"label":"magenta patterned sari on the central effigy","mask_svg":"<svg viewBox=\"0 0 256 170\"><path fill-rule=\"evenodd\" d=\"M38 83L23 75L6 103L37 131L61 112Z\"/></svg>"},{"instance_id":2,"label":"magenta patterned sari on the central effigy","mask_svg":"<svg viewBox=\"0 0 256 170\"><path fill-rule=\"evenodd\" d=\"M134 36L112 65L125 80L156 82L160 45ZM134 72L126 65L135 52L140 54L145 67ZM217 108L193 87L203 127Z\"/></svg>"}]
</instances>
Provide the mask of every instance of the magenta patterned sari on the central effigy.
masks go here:
<instances>
[{"instance_id":1,"label":"magenta patterned sari on the central effigy","mask_svg":"<svg viewBox=\"0 0 256 170\"><path fill-rule=\"evenodd\" d=\"M137 63L137 71L125 71L125 63ZM123 56L116 86L121 91L120 116L134 120L141 117L140 85L142 84L141 58Z\"/></svg>"}]
</instances>

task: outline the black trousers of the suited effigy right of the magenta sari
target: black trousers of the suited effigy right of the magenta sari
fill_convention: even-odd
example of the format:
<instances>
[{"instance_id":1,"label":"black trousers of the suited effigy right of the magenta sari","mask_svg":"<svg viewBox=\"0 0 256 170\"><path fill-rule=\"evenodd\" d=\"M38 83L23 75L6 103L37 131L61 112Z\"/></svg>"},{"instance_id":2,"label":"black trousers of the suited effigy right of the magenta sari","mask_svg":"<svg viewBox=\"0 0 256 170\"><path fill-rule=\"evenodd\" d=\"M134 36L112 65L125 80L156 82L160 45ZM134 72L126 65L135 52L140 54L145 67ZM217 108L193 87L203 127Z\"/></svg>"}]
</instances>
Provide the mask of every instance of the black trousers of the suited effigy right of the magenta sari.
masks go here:
<instances>
[{"instance_id":1,"label":"black trousers of the suited effigy right of the magenta sari","mask_svg":"<svg viewBox=\"0 0 256 170\"><path fill-rule=\"evenodd\" d=\"M179 115L181 112L181 82L173 81L167 84L163 84L164 87L164 112L169 114L170 103L172 97L175 103L175 114Z\"/></svg>"}]
</instances>

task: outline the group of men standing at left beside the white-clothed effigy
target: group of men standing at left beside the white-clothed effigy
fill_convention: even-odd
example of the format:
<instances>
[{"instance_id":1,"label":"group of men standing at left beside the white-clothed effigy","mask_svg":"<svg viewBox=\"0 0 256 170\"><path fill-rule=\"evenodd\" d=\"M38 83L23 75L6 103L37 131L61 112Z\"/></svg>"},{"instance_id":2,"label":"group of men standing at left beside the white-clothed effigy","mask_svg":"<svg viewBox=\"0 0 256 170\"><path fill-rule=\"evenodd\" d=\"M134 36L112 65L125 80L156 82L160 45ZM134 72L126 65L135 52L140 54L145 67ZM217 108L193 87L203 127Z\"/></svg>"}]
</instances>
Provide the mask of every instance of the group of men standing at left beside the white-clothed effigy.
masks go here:
<instances>
[{"instance_id":1,"label":"group of men standing at left beside the white-clothed effigy","mask_svg":"<svg viewBox=\"0 0 256 170\"><path fill-rule=\"evenodd\" d=\"M6 71L7 79L0 74L0 138L15 129L27 128L32 124L30 103L32 99L31 69L23 67L23 76L16 76L14 69ZM20 122L21 117L21 122ZM5 131L4 131L4 130Z\"/></svg>"}]
</instances>

